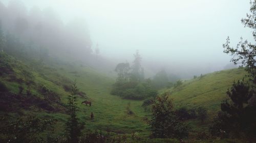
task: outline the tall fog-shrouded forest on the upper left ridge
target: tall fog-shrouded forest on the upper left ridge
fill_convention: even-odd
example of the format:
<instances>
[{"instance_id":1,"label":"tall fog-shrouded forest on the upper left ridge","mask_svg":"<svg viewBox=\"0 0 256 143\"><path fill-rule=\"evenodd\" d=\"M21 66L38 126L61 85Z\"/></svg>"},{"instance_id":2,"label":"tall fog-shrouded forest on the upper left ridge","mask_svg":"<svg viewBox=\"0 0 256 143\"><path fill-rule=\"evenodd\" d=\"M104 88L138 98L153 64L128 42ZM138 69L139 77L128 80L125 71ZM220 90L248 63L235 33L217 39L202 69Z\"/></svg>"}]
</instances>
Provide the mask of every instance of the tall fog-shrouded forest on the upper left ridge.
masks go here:
<instances>
[{"instance_id":1,"label":"tall fog-shrouded forest on the upper left ridge","mask_svg":"<svg viewBox=\"0 0 256 143\"><path fill-rule=\"evenodd\" d=\"M1 45L4 50L11 50L12 44L16 51L26 47L80 58L86 58L92 52L92 42L84 20L76 19L63 24L51 8L40 10L33 7L28 10L22 2L10 1L7 7L0 2L0 25L4 35L0 40L6 42L6 45ZM10 43L10 39L16 40Z\"/></svg>"}]
</instances>

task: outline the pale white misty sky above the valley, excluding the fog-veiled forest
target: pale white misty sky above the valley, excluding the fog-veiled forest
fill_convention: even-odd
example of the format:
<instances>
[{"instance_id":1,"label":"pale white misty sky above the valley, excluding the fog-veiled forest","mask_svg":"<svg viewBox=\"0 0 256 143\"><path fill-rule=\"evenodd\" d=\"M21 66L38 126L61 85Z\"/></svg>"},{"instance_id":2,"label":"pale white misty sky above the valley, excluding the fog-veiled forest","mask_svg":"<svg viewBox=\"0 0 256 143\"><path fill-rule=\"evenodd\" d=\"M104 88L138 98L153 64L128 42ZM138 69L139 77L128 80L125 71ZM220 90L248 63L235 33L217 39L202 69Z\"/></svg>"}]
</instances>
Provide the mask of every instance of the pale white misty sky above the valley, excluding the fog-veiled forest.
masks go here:
<instances>
[{"instance_id":1,"label":"pale white misty sky above the valley, excluding the fog-veiled forest","mask_svg":"<svg viewBox=\"0 0 256 143\"><path fill-rule=\"evenodd\" d=\"M8 0L0 0L6 6ZM249 0L23 0L27 8L51 7L64 23L87 21L95 48L109 58L131 61L139 49L144 61L170 67L221 70L230 56L222 44L230 36L253 42L251 30L241 24ZM163 63L163 61L165 61ZM161 65L160 65L161 66Z\"/></svg>"}]
</instances>

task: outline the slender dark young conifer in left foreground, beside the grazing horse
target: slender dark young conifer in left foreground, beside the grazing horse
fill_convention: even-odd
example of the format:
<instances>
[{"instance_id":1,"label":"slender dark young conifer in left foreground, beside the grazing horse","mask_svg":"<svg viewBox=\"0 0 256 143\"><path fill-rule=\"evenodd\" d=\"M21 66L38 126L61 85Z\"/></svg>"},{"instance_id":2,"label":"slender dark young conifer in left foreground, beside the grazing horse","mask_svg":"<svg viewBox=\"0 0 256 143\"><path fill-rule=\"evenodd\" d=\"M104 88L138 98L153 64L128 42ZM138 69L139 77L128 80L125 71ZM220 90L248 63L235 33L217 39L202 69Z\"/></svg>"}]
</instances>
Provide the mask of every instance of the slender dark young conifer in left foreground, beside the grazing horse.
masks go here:
<instances>
[{"instance_id":1,"label":"slender dark young conifer in left foreground, beside the grazing horse","mask_svg":"<svg viewBox=\"0 0 256 143\"><path fill-rule=\"evenodd\" d=\"M76 80L73 83L72 90L70 93L70 96L68 98L68 109L69 109L69 115L70 118L68 122L66 123L66 131L68 135L68 142L70 143L76 143L79 140L79 136L81 135L81 130L84 128L83 124L78 123L78 119L76 117L76 111L77 111L77 103L76 103L76 93L78 89L76 86Z\"/></svg>"}]
</instances>

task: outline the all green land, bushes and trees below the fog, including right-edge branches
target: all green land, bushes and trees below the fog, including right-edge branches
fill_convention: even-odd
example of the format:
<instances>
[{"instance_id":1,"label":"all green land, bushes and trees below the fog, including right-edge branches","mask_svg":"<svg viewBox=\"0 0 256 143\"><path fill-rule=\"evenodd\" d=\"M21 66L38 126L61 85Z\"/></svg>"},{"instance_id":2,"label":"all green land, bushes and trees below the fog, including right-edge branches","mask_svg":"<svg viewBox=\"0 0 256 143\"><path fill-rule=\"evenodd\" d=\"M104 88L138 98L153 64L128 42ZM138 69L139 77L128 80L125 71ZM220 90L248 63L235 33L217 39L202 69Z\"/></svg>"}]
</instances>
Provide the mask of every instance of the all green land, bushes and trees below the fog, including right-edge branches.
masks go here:
<instances>
[{"instance_id":1,"label":"all green land, bushes and trees below the fog, including right-edge branches","mask_svg":"<svg viewBox=\"0 0 256 143\"><path fill-rule=\"evenodd\" d=\"M253 15L242 20L253 30L255 11L253 2ZM166 73L145 79L138 52L132 67L117 65L114 80L82 62L25 48L11 34L1 32L0 40L1 142L256 140L256 52L247 41L231 48L227 38L223 46L245 68L159 84Z\"/></svg>"}]
</instances>

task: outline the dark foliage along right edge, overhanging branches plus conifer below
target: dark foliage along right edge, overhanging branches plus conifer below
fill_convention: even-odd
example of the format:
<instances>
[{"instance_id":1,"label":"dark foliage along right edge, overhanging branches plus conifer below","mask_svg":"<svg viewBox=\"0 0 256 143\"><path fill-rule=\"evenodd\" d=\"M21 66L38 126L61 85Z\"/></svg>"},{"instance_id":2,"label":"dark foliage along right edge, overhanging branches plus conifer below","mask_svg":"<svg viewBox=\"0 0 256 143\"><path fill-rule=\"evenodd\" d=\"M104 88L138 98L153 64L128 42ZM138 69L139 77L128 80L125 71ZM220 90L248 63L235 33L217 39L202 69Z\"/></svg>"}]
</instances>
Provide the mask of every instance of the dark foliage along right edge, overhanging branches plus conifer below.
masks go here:
<instances>
[{"instance_id":1,"label":"dark foliage along right edge, overhanging branches plus conifer below","mask_svg":"<svg viewBox=\"0 0 256 143\"><path fill-rule=\"evenodd\" d=\"M242 23L252 28L252 36L256 40L256 1L251 1L251 14L247 14L242 19ZM256 105L255 105L255 83L256 83L256 45L247 40L241 41L236 48L230 46L229 37L223 44L224 52L232 55L231 61L234 64L245 65L245 70L249 73L249 82L239 80L234 82L231 91L227 95L231 100L221 103L221 110L216 117L214 124L210 128L211 134L221 137L242 137L255 138L256 136Z\"/></svg>"}]
</instances>

